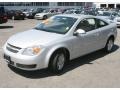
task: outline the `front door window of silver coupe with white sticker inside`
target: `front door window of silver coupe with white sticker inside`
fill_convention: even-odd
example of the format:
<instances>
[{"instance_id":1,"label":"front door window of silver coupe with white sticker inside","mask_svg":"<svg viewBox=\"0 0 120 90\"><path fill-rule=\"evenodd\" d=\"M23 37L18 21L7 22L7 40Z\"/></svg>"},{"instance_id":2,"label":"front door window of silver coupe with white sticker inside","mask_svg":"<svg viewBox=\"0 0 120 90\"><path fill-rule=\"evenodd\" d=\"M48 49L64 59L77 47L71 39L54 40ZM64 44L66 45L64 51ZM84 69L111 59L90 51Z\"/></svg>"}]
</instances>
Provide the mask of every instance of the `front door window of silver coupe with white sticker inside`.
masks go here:
<instances>
[{"instance_id":1,"label":"front door window of silver coupe with white sticker inside","mask_svg":"<svg viewBox=\"0 0 120 90\"><path fill-rule=\"evenodd\" d=\"M87 19L83 19L82 21L80 21L76 30L83 29L86 32L88 32L88 31L94 30L95 27L96 27L95 19L94 18L87 18Z\"/></svg>"}]
</instances>

